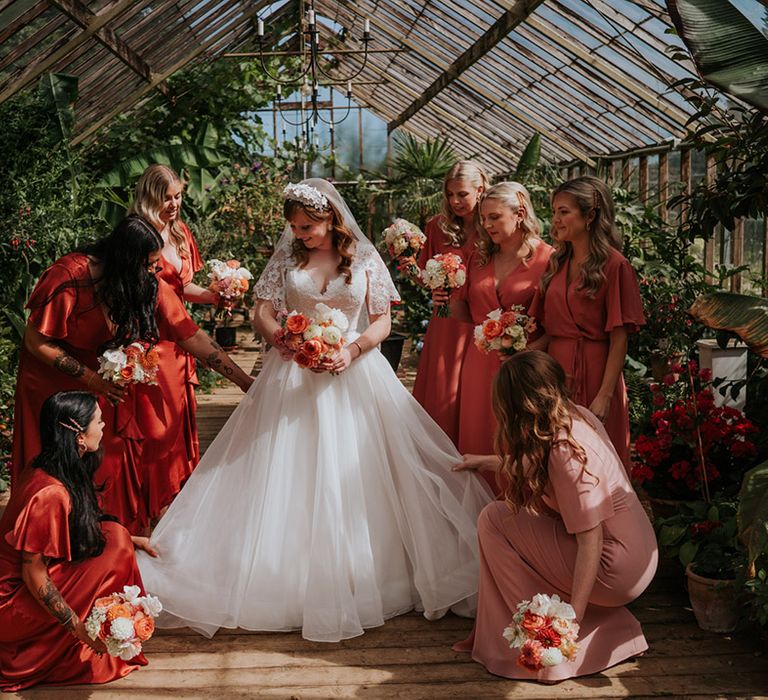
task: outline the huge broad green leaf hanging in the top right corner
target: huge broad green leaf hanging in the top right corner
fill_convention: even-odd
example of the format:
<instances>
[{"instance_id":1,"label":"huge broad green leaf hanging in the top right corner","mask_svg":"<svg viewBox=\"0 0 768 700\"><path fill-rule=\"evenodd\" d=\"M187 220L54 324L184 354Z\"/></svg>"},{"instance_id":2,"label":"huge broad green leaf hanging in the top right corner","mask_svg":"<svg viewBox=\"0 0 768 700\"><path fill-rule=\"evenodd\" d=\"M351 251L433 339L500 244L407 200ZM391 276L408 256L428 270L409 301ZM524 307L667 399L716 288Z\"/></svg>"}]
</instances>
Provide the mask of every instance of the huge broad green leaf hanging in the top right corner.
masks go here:
<instances>
[{"instance_id":1,"label":"huge broad green leaf hanging in the top right corner","mask_svg":"<svg viewBox=\"0 0 768 700\"><path fill-rule=\"evenodd\" d=\"M729 0L667 0L701 77L768 111L768 37Z\"/></svg>"}]
</instances>

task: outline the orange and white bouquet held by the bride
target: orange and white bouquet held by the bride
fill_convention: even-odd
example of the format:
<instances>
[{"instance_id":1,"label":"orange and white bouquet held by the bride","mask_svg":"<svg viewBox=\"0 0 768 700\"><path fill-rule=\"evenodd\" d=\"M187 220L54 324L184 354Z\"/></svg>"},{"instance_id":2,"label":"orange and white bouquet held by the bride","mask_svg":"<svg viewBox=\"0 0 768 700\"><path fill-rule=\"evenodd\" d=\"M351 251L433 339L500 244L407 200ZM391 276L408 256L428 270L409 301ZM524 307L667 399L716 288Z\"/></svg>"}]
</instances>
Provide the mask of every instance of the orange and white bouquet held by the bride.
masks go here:
<instances>
[{"instance_id":1,"label":"orange and white bouquet held by the bride","mask_svg":"<svg viewBox=\"0 0 768 700\"><path fill-rule=\"evenodd\" d=\"M317 304L315 314L292 311L275 334L275 342L293 353L299 367L314 369L344 346L344 332L349 320L338 309Z\"/></svg>"}]
</instances>

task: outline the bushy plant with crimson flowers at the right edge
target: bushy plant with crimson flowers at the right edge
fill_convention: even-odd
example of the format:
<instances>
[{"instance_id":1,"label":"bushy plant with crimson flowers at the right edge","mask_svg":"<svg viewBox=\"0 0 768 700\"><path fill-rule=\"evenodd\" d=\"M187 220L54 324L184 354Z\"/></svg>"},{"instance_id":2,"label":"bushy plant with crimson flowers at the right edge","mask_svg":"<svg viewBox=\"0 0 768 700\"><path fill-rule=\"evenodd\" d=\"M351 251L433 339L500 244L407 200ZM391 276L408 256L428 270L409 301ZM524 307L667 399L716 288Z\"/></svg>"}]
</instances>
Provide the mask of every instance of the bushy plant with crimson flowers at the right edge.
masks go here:
<instances>
[{"instance_id":1,"label":"bushy plant with crimson flowers at the right edge","mask_svg":"<svg viewBox=\"0 0 768 700\"><path fill-rule=\"evenodd\" d=\"M656 410L635 440L632 477L652 505L735 495L757 455L754 423L742 411L715 405L710 373L693 361L671 366L650 388Z\"/></svg>"}]
</instances>

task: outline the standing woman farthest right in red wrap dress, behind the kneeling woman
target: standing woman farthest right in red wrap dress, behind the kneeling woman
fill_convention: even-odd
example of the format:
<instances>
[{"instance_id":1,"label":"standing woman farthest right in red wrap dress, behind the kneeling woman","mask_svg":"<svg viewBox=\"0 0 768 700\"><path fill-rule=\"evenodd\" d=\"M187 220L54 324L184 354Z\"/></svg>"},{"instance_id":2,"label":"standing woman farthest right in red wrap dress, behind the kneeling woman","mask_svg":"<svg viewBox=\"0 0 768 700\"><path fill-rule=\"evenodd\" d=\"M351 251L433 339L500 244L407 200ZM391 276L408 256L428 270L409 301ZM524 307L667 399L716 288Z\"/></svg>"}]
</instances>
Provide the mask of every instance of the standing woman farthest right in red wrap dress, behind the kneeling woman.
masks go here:
<instances>
[{"instance_id":1,"label":"standing woman farthest right in red wrap dress, behind the kneeling woman","mask_svg":"<svg viewBox=\"0 0 768 700\"><path fill-rule=\"evenodd\" d=\"M547 352L565 370L573 400L605 425L629 469L624 384L627 338L645 323L635 271L621 254L608 186L585 175L552 194L555 254L541 282L536 314Z\"/></svg>"}]
</instances>

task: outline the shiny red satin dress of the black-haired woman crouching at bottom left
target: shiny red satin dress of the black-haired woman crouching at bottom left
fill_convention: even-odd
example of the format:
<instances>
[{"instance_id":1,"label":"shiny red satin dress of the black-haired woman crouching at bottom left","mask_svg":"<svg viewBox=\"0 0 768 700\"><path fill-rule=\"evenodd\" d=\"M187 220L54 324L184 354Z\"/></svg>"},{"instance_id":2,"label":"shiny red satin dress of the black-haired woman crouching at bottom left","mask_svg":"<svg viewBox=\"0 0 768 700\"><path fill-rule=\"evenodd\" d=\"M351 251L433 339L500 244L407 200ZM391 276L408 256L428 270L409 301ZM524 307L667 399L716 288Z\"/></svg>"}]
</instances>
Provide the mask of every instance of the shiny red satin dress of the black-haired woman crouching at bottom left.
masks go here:
<instances>
[{"instance_id":1,"label":"shiny red satin dress of the black-haired woman crouching at bottom left","mask_svg":"<svg viewBox=\"0 0 768 700\"><path fill-rule=\"evenodd\" d=\"M0 690L107 683L147 663L143 654L130 661L99 656L65 630L22 581L22 551L50 557L51 581L81 620L97 598L123 586L143 589L130 535L118 523L101 524L106 544L99 556L71 561L70 511L66 488L42 469L25 469L17 478L0 519Z\"/></svg>"}]
</instances>

